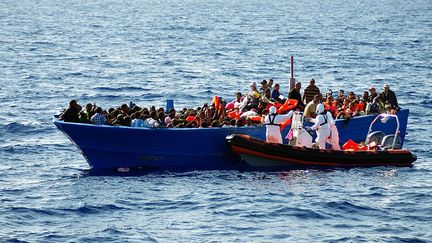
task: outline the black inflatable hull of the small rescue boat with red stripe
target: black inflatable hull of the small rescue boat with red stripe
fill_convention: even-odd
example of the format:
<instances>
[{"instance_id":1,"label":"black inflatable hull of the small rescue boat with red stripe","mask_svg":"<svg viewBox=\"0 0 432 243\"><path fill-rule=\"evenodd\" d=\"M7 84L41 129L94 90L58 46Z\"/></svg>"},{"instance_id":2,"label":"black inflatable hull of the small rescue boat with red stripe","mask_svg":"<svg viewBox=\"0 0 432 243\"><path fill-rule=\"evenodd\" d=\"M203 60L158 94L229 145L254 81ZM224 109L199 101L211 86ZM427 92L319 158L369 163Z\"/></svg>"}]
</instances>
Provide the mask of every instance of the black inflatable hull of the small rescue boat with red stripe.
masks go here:
<instances>
[{"instance_id":1,"label":"black inflatable hull of the small rescue boat with red stripe","mask_svg":"<svg viewBox=\"0 0 432 243\"><path fill-rule=\"evenodd\" d=\"M334 151L268 143L245 134L226 138L230 149L250 166L268 169L412 166L417 157L408 150Z\"/></svg>"}]
</instances>

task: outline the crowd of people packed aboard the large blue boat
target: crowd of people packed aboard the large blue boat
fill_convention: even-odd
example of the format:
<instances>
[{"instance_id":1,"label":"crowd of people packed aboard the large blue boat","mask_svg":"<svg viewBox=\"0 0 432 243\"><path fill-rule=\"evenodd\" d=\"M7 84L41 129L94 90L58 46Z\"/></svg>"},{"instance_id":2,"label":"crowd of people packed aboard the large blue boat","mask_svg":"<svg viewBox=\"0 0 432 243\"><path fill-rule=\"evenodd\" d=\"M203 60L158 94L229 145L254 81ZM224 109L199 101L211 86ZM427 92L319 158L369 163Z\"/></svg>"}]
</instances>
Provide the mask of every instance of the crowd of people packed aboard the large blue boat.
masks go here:
<instances>
[{"instance_id":1,"label":"crowd of people packed aboard the large blue boat","mask_svg":"<svg viewBox=\"0 0 432 243\"><path fill-rule=\"evenodd\" d=\"M280 92L280 85L273 83L272 79L262 80L260 84L258 87L256 82L252 82L248 93L243 95L237 92L232 101L215 96L211 102L195 109L164 110L155 106L140 107L131 102L129 105L122 104L120 107L104 110L91 103L82 107L76 100L71 100L69 107L59 118L65 122L149 128L256 126L265 123L264 117L269 114L271 107L280 107L287 99L297 100L294 110L303 111L306 119L316 118L319 104L335 119L399 110L396 95L388 85L384 85L381 93L370 87L362 95L356 95L352 91L346 95L344 90L339 90L334 97L332 90L323 95L315 80L311 79L303 95L302 85L297 82L285 97ZM281 114L287 112L278 110Z\"/></svg>"}]
</instances>

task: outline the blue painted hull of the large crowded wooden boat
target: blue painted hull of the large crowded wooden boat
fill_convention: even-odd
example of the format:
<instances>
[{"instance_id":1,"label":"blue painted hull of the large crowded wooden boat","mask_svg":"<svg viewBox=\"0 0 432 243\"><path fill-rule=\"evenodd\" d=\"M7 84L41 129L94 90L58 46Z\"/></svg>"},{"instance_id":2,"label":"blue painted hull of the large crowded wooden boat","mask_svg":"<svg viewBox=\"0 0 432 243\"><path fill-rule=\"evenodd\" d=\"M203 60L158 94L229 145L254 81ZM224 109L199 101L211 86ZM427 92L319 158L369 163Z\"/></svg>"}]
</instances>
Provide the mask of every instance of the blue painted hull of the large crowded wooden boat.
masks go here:
<instances>
[{"instance_id":1,"label":"blue painted hull of the large crowded wooden boat","mask_svg":"<svg viewBox=\"0 0 432 243\"><path fill-rule=\"evenodd\" d=\"M402 143L409 110L398 113ZM340 142L364 141L375 116L337 120ZM81 150L93 169L143 167L167 170L235 169L240 158L225 144L232 133L245 133L265 139L265 127L240 128L132 128L91 124L54 124ZM377 124L374 130L394 133L396 125ZM283 131L283 136L289 127Z\"/></svg>"}]
</instances>

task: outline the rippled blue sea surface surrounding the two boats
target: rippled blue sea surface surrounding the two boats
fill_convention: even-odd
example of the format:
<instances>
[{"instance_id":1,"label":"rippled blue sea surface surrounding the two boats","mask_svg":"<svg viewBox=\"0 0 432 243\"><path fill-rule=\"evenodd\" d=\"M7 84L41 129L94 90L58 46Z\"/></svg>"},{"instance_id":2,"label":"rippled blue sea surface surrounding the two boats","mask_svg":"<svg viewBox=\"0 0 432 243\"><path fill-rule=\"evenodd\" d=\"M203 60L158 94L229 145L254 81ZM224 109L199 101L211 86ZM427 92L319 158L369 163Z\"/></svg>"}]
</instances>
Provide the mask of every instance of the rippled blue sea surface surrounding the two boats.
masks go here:
<instances>
[{"instance_id":1,"label":"rippled blue sea surface surrounding the two boats","mask_svg":"<svg viewBox=\"0 0 432 243\"><path fill-rule=\"evenodd\" d=\"M432 242L432 2L0 1L0 242ZM196 107L295 77L384 84L412 168L89 173L69 100Z\"/></svg>"}]
</instances>

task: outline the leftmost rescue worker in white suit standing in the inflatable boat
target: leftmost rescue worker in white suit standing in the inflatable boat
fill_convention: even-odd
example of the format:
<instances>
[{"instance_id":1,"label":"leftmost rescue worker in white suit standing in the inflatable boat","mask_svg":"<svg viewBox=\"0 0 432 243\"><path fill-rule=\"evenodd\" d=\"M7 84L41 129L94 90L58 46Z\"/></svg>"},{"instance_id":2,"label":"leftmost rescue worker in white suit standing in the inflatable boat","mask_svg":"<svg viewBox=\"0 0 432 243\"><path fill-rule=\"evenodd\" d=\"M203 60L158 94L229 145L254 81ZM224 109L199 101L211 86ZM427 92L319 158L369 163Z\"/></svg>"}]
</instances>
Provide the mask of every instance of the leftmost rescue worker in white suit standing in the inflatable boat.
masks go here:
<instances>
[{"instance_id":1,"label":"leftmost rescue worker in white suit standing in the inflatable boat","mask_svg":"<svg viewBox=\"0 0 432 243\"><path fill-rule=\"evenodd\" d=\"M280 131L280 124L290 119L293 111L286 115L276 114L276 107L272 106L269 109L269 114L264 118L266 124L266 141L270 143L282 143L282 135Z\"/></svg>"}]
</instances>

